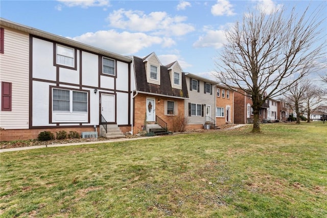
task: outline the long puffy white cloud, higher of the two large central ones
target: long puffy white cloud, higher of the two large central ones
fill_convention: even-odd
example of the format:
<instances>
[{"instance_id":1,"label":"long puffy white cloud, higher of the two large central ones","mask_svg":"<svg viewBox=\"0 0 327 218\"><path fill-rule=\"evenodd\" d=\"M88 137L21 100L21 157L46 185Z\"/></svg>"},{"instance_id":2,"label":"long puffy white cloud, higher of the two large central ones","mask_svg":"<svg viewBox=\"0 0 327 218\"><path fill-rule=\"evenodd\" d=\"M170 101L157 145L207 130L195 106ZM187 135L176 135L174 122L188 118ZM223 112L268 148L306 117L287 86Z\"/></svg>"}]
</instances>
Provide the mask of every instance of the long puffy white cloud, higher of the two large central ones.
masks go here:
<instances>
[{"instance_id":1,"label":"long puffy white cloud, higher of the two large central ones","mask_svg":"<svg viewBox=\"0 0 327 218\"><path fill-rule=\"evenodd\" d=\"M113 11L107 20L110 26L129 31L152 32L154 35L180 36L195 30L192 25L184 23L187 17L171 17L166 12L126 11L124 9Z\"/></svg>"}]
</instances>

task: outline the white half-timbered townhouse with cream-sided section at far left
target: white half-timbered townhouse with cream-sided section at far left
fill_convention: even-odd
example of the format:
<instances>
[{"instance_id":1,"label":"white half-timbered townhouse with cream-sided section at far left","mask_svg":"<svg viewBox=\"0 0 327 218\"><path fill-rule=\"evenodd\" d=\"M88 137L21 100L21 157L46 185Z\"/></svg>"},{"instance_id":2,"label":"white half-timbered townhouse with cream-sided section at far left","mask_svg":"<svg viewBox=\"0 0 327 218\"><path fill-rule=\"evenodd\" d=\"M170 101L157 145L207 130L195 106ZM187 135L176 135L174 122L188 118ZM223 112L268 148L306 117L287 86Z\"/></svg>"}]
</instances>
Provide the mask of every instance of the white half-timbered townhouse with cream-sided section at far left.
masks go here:
<instances>
[{"instance_id":1,"label":"white half-timbered townhouse with cream-sided section at far left","mask_svg":"<svg viewBox=\"0 0 327 218\"><path fill-rule=\"evenodd\" d=\"M132 58L0 21L1 140L131 130Z\"/></svg>"}]
</instances>

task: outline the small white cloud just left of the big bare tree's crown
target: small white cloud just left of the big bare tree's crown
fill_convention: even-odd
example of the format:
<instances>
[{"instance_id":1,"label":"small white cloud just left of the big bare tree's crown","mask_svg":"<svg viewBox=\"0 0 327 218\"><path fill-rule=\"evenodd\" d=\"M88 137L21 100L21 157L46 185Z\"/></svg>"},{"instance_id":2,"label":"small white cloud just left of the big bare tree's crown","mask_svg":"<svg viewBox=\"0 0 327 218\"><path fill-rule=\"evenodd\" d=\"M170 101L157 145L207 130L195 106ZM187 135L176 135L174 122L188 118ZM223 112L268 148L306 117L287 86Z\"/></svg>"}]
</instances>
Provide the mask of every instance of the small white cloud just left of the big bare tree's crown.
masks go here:
<instances>
[{"instance_id":1,"label":"small white cloud just left of the big bare tree's crown","mask_svg":"<svg viewBox=\"0 0 327 218\"><path fill-rule=\"evenodd\" d=\"M226 41L225 31L223 30L206 30L206 34L200 36L199 39L193 43L194 47L214 47L219 49Z\"/></svg>"}]
</instances>

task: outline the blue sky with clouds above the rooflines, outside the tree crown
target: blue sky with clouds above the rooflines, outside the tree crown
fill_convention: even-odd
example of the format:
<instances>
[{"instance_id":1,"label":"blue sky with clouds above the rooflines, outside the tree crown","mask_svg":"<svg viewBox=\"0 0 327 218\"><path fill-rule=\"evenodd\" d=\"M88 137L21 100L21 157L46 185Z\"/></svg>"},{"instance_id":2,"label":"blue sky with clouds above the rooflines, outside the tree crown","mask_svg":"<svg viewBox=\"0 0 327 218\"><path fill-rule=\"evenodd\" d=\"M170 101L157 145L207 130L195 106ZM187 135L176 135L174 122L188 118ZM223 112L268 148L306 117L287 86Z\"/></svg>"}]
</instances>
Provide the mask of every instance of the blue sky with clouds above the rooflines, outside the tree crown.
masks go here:
<instances>
[{"instance_id":1,"label":"blue sky with clouds above the rooflines, outside the tree crown","mask_svg":"<svg viewBox=\"0 0 327 218\"><path fill-rule=\"evenodd\" d=\"M183 71L213 79L225 31L244 13L284 6L301 14L309 5L310 13L321 4L327 1L1 0L0 16L121 55L155 52L163 65L177 60ZM323 26L326 35L327 20Z\"/></svg>"}]
</instances>

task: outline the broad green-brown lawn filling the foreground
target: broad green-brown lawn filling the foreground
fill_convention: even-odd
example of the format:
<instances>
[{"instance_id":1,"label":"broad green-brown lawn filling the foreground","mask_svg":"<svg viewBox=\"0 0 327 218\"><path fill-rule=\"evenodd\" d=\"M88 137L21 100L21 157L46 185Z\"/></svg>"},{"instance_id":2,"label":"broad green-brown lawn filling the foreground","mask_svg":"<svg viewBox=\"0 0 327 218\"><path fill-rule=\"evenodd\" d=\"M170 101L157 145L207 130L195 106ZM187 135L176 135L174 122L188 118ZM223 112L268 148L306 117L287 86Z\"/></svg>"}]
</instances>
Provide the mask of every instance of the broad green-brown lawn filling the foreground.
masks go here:
<instances>
[{"instance_id":1,"label":"broad green-brown lawn filling the foreground","mask_svg":"<svg viewBox=\"0 0 327 218\"><path fill-rule=\"evenodd\" d=\"M327 124L1 154L0 217L327 217Z\"/></svg>"}]
</instances>

